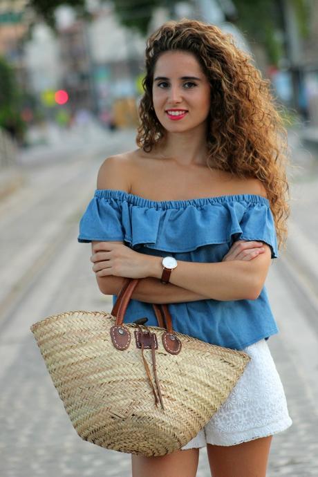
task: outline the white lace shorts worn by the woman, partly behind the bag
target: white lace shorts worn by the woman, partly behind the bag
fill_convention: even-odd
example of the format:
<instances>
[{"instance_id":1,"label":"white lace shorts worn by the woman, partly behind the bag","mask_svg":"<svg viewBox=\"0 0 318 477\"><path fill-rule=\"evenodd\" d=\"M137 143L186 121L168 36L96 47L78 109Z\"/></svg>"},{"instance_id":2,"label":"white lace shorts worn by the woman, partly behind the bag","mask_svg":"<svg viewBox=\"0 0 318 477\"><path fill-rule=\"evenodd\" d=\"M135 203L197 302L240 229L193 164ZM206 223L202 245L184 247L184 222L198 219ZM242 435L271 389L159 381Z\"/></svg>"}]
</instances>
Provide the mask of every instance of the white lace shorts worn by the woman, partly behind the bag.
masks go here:
<instances>
[{"instance_id":1,"label":"white lace shorts worn by the woman, partly behind the bag","mask_svg":"<svg viewBox=\"0 0 318 477\"><path fill-rule=\"evenodd\" d=\"M265 339L244 349L252 358L220 409L184 447L230 446L291 426L283 384Z\"/></svg>"}]
</instances>

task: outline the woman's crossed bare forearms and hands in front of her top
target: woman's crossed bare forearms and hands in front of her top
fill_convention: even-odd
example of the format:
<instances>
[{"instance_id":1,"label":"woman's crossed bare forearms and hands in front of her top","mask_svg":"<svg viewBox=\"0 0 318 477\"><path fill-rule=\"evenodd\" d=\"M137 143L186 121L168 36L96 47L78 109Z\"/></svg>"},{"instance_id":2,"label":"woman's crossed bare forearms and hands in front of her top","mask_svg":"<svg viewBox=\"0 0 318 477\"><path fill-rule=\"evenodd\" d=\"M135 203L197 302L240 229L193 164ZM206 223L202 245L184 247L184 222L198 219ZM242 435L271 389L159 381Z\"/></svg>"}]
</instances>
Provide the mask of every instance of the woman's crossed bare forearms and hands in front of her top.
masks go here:
<instances>
[{"instance_id":1,"label":"woman's crossed bare forearms and hands in front of her top","mask_svg":"<svg viewBox=\"0 0 318 477\"><path fill-rule=\"evenodd\" d=\"M146 278L140 278L132 295L133 299L146 303L178 303L209 298L218 300L255 299L263 288L270 263L270 247L268 245L261 247L261 245L263 244L254 241L236 241L223 257L223 261L219 263L178 261L178 267L173 270L171 278L180 264L183 268L185 265L183 272L187 265L191 265L191 268L187 270L188 274L187 272L180 274L183 280L182 286L171 279L171 283L167 285L160 283L158 278L162 274L161 257L140 254L130 250L121 242L93 243L91 261L94 263L93 271L96 274L98 286L104 294L118 294L124 283L122 277L135 278L146 275ZM265 256L262 261L260 260L261 256ZM244 265L252 263L255 265L243 268ZM268 265L265 265L266 263ZM236 267L229 268L228 265L232 264ZM220 265L227 266L227 270L223 274L219 271ZM211 272L212 268L214 268L214 273ZM138 272L136 272L137 269ZM113 270L113 274L111 274L111 270ZM133 274L131 270L134 271ZM233 275L233 273L235 274ZM148 276L151 274L153 276L149 278ZM193 277L193 274L196 276ZM187 278L189 278L189 283L185 281ZM199 280L208 290L206 295L200 290ZM212 280L214 280L213 290L209 284ZM189 289L185 288L185 285L189 286ZM196 290L194 290L194 286L196 286ZM212 294L209 293L209 287L211 287Z\"/></svg>"}]
</instances>

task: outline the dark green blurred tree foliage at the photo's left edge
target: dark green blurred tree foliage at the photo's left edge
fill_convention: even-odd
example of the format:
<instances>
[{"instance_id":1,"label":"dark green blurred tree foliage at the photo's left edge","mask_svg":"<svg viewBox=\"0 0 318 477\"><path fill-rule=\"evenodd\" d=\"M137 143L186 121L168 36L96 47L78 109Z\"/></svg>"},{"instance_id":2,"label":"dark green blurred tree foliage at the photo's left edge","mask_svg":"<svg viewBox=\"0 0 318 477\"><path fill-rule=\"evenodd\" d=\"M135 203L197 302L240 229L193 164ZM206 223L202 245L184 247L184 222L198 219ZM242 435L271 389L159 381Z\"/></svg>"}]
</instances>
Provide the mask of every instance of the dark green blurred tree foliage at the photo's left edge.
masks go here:
<instances>
[{"instance_id":1,"label":"dark green blurred tree foliage at the photo's left edge","mask_svg":"<svg viewBox=\"0 0 318 477\"><path fill-rule=\"evenodd\" d=\"M25 131L21 119L21 92L15 73L5 59L0 58L0 127L21 140Z\"/></svg>"}]
</instances>

